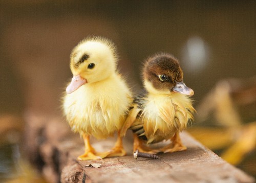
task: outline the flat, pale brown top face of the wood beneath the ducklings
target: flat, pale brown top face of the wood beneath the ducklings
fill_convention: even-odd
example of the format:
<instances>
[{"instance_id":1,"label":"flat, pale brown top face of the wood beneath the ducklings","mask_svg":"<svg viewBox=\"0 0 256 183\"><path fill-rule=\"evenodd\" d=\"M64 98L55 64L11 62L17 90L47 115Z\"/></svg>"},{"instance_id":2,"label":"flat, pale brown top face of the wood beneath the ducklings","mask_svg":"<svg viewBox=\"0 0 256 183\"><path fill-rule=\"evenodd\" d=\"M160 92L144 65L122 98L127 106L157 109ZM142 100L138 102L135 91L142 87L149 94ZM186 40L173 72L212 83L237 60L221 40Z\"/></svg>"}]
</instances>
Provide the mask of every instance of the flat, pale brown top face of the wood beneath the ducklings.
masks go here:
<instances>
[{"instance_id":1,"label":"flat, pale brown top face of the wood beneath the ducklings","mask_svg":"<svg viewBox=\"0 0 256 183\"><path fill-rule=\"evenodd\" d=\"M188 133L181 138L187 151L160 154L160 159L125 156L78 163L92 182L253 182ZM100 168L85 167L96 162Z\"/></svg>"}]
</instances>

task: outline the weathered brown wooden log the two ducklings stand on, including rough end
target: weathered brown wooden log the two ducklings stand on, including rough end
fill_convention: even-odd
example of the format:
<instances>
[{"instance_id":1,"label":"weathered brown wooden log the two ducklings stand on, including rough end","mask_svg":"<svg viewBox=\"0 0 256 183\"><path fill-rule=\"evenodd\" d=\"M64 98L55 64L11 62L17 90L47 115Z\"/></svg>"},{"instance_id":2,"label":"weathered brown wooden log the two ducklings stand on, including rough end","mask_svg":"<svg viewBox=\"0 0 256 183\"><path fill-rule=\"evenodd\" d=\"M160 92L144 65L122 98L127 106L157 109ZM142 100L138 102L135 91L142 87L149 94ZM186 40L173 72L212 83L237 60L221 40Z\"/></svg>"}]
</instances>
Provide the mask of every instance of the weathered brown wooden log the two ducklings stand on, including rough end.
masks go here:
<instances>
[{"instance_id":1,"label":"weathered brown wooden log the two ducklings stand on, including rough end","mask_svg":"<svg viewBox=\"0 0 256 183\"><path fill-rule=\"evenodd\" d=\"M160 159L134 159L132 139L127 137L124 139L127 156L76 161L83 152L82 140L63 120L29 116L26 129L27 153L32 162L40 163L50 182L254 182L187 132L181 133L181 138L188 149L160 154ZM110 149L113 140L93 140L93 146L100 151ZM95 163L100 167L88 167Z\"/></svg>"}]
</instances>

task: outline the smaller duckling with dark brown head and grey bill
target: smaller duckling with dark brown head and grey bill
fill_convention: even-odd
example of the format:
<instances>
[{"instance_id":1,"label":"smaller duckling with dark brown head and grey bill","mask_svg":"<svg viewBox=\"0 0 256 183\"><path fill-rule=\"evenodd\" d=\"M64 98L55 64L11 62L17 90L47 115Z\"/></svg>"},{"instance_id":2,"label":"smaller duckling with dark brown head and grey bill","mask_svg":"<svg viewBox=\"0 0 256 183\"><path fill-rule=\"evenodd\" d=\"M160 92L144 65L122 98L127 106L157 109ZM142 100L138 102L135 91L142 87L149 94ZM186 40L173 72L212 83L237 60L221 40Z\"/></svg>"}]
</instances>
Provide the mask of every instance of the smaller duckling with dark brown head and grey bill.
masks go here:
<instances>
[{"instance_id":1,"label":"smaller duckling with dark brown head and grey bill","mask_svg":"<svg viewBox=\"0 0 256 183\"><path fill-rule=\"evenodd\" d=\"M186 150L179 133L193 119L195 109L189 97L194 91L183 83L179 61L169 54L156 54L144 62L142 76L144 90L134 99L121 133L129 127L133 130L134 151ZM163 140L172 143L158 149L148 147Z\"/></svg>"}]
</instances>

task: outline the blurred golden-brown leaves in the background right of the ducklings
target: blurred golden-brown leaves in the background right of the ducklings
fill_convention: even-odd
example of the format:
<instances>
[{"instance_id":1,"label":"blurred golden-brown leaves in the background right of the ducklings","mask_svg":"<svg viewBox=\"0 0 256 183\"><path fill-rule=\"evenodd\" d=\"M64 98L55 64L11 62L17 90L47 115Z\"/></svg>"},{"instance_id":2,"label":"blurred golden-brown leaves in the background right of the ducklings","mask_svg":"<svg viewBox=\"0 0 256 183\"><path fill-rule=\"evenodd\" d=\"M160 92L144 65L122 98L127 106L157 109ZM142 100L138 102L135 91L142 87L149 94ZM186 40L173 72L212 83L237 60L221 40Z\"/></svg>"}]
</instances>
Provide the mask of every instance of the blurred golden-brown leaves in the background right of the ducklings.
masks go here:
<instances>
[{"instance_id":1,"label":"blurred golden-brown leaves in the background right of the ducklings","mask_svg":"<svg viewBox=\"0 0 256 183\"><path fill-rule=\"evenodd\" d=\"M256 147L256 76L227 79L217 83L197 108L200 124L212 121L214 127L194 127L189 131L221 157L240 164Z\"/></svg>"}]
</instances>

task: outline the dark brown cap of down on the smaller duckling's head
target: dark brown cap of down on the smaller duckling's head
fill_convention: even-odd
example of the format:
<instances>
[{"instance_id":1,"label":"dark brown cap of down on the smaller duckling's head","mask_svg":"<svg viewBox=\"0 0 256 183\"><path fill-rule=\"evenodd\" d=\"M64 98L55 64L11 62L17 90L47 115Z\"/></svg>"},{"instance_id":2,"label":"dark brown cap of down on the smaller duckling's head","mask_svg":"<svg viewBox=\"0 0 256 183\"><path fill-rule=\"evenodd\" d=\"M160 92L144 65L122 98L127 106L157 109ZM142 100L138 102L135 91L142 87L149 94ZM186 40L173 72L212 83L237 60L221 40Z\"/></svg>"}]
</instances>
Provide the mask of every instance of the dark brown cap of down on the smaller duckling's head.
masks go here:
<instances>
[{"instance_id":1,"label":"dark brown cap of down on the smaller duckling's head","mask_svg":"<svg viewBox=\"0 0 256 183\"><path fill-rule=\"evenodd\" d=\"M166 80L161 80L159 75L165 75ZM172 89L177 82L183 80L183 72L179 61L169 54L157 54L146 60L143 77L151 82L154 88L164 90Z\"/></svg>"}]
</instances>

